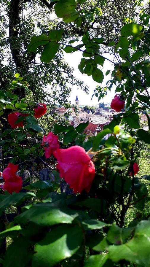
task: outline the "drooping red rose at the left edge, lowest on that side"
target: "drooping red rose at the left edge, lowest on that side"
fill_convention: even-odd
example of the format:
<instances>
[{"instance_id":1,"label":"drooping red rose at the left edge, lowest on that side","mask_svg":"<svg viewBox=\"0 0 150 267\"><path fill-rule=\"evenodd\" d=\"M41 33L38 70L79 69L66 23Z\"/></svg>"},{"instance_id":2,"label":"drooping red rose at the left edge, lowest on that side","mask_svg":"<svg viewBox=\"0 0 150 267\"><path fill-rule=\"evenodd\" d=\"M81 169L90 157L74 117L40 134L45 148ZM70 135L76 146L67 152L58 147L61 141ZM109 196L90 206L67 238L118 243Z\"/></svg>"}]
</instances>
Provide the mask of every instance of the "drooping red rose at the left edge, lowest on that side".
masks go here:
<instances>
[{"instance_id":1,"label":"drooping red rose at the left edge, lowest on that side","mask_svg":"<svg viewBox=\"0 0 150 267\"><path fill-rule=\"evenodd\" d=\"M12 194L12 192L18 193L22 188L22 178L15 174L17 170L18 165L9 163L2 174L4 179L4 185L1 185L0 187L3 190L7 190L10 194Z\"/></svg>"}]
</instances>

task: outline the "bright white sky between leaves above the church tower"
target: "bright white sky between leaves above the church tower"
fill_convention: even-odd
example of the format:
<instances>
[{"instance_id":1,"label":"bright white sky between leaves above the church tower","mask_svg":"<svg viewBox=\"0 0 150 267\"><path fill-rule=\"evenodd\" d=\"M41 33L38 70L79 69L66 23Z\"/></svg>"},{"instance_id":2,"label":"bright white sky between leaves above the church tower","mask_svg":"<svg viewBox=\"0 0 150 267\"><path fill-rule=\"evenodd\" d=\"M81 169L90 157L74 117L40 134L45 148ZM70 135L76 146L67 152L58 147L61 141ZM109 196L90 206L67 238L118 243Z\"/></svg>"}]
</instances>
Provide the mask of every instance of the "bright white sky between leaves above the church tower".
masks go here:
<instances>
[{"instance_id":1,"label":"bright white sky between leaves above the church tower","mask_svg":"<svg viewBox=\"0 0 150 267\"><path fill-rule=\"evenodd\" d=\"M76 79L84 81L85 85L88 86L89 94L85 93L80 88L77 90L76 86L72 86L72 91L69 95L68 100L71 101L71 104L74 104L76 95L77 95L79 99L79 106L80 105L81 106L83 105L97 106L98 98L93 96L91 100L92 94L94 93L93 90L96 88L97 85L101 85L102 87L106 86L106 82L111 79L111 72L107 76L105 76L105 73L108 69L112 71L114 67L113 65L111 65L111 62L109 62L108 60L104 61L103 67L98 66L103 71L103 74L104 74L104 80L101 84L99 84L98 82L93 81L92 76L88 77L86 74L82 74L79 71L78 65L80 63L81 58L82 58L82 52L80 51L76 51L72 54L64 52L64 60L68 63L70 67L74 68L73 75L76 77ZM108 90L108 95L105 96L103 99L101 99L100 102L104 102L105 104L111 103L111 100L114 98L114 94L115 94L115 87L111 88L111 92Z\"/></svg>"}]
</instances>

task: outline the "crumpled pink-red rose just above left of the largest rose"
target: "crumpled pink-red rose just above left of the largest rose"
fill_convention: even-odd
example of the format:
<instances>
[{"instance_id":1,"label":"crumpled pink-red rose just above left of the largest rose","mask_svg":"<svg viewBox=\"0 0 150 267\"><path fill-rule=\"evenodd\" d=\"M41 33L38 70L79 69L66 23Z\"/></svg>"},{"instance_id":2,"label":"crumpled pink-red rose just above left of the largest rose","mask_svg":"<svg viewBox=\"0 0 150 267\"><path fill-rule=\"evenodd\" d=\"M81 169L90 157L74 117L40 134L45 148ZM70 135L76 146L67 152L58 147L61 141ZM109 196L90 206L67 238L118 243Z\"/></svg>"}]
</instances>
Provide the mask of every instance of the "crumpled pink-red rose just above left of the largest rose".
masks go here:
<instances>
[{"instance_id":1,"label":"crumpled pink-red rose just above left of the largest rose","mask_svg":"<svg viewBox=\"0 0 150 267\"><path fill-rule=\"evenodd\" d=\"M44 147L45 157L50 158L50 156L53 154L53 151L59 148L58 136L52 132L49 132L47 137L45 135L43 136L42 146L44 146L46 143L47 146Z\"/></svg>"}]
</instances>

